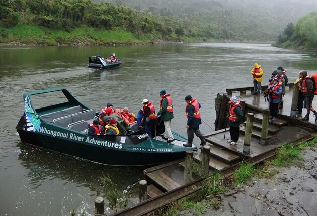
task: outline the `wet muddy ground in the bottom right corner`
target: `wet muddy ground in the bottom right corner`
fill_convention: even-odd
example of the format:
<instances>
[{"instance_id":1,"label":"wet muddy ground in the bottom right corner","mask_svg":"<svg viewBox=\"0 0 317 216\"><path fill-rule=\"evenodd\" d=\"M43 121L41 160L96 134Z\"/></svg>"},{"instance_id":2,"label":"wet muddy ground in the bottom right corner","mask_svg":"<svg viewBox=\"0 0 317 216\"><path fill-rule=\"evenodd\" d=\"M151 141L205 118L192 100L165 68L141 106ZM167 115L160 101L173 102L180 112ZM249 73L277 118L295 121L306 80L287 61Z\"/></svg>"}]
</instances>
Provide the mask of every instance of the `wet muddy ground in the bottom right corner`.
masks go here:
<instances>
[{"instance_id":1,"label":"wet muddy ground in the bottom right corner","mask_svg":"<svg viewBox=\"0 0 317 216\"><path fill-rule=\"evenodd\" d=\"M201 215L317 215L317 148L302 152L302 165L271 168L272 179L253 178L222 195L222 206ZM193 215L192 210L180 215Z\"/></svg>"}]
</instances>

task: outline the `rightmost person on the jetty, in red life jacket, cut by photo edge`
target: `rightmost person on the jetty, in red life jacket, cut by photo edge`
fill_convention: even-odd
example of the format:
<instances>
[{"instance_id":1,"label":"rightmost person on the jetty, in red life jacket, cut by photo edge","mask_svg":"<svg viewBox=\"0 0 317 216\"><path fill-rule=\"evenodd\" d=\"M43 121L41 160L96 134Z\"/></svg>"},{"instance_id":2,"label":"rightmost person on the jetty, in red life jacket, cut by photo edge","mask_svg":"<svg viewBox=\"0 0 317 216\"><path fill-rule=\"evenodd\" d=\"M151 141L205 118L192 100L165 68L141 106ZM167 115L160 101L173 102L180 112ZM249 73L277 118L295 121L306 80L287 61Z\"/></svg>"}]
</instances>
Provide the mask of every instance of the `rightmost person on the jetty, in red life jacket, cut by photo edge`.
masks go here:
<instances>
[{"instance_id":1,"label":"rightmost person on the jetty, in red life jacket, cut by photo edge","mask_svg":"<svg viewBox=\"0 0 317 216\"><path fill-rule=\"evenodd\" d=\"M313 112L313 115L316 116L315 121L317 121L317 112L315 109L312 107L312 100L314 98L314 92L313 92L313 81L308 78L307 76L307 71L301 71L301 75L303 77L303 82L302 82L302 93L304 96L304 107L307 109L307 114L304 118L301 120L303 121L308 121L309 120L309 114L310 111Z\"/></svg>"}]
</instances>

